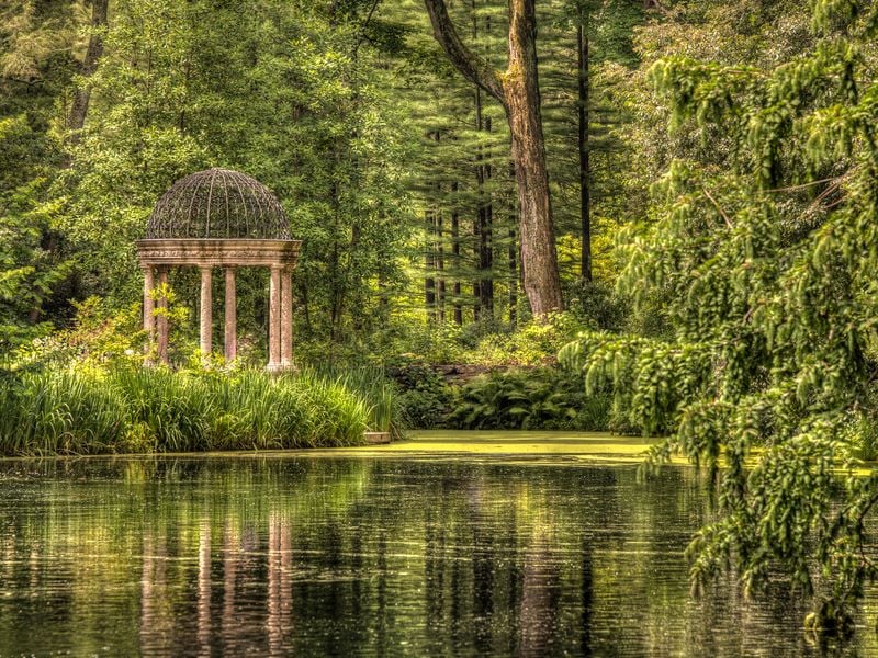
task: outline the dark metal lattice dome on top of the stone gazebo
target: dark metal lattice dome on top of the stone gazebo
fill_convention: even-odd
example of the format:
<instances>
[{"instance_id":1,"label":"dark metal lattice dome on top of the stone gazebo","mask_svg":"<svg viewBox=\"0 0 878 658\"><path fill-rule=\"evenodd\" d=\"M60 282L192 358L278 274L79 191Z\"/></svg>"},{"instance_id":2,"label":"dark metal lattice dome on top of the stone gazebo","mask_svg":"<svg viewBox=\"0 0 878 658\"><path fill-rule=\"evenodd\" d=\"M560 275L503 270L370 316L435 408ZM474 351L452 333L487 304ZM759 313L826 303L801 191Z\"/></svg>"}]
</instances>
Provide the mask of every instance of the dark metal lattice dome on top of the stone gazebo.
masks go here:
<instances>
[{"instance_id":1,"label":"dark metal lattice dome on top of the stone gazebo","mask_svg":"<svg viewBox=\"0 0 878 658\"><path fill-rule=\"evenodd\" d=\"M146 238L289 240L290 218L271 190L256 179L213 168L170 186L149 216Z\"/></svg>"}]
</instances>

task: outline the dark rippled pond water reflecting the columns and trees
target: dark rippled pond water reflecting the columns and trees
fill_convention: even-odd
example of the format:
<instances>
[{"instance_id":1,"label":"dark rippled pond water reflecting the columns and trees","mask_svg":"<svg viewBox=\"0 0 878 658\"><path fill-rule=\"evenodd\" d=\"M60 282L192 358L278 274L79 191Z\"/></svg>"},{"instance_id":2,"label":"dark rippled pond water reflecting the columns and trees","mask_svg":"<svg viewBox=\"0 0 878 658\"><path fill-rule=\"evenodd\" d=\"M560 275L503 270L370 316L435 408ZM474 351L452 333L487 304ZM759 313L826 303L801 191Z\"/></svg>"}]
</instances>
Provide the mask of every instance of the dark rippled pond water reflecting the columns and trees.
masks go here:
<instances>
[{"instance_id":1,"label":"dark rippled pond water reflecting the columns and trees","mask_svg":"<svg viewBox=\"0 0 878 658\"><path fill-rule=\"evenodd\" d=\"M701 476L626 445L0 461L0 656L820 655L783 592L689 598Z\"/></svg>"}]
</instances>

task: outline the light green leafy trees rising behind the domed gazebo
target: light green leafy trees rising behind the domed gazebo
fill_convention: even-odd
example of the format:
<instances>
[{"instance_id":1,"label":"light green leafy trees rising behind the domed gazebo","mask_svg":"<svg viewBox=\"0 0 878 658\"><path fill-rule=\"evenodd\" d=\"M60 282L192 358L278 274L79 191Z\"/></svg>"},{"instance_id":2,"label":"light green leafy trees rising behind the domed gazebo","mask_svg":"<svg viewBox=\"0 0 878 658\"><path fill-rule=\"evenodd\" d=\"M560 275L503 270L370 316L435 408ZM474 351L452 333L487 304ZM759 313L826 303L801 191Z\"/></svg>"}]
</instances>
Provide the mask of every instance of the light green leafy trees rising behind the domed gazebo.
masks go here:
<instances>
[{"instance_id":1,"label":"light green leafy trees rising behind the domed gazebo","mask_svg":"<svg viewBox=\"0 0 878 658\"><path fill-rule=\"evenodd\" d=\"M344 342L373 329L371 311L403 279L410 135L380 50L363 43L371 8L120 0L87 83L72 76L89 34L81 3L10 9L0 27L0 344L41 333L26 330L43 313L64 325L69 299L134 303L133 240L172 181L212 164L255 175L286 205L304 240L299 334ZM368 34L386 41L393 27ZM75 82L91 94L70 135ZM264 282L241 283L241 305L257 306Z\"/></svg>"}]
</instances>

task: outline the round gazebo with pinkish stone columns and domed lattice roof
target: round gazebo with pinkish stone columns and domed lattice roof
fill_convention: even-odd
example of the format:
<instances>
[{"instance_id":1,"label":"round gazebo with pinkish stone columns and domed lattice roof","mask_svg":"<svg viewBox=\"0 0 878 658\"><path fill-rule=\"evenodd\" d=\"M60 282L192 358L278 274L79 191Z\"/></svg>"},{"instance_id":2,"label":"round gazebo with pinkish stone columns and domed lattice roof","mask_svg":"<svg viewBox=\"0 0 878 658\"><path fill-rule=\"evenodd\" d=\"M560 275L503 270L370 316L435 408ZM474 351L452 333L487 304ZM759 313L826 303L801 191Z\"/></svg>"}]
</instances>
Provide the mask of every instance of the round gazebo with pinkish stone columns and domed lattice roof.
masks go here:
<instances>
[{"instance_id":1,"label":"round gazebo with pinkish stone columns and domed lattice roof","mask_svg":"<svg viewBox=\"0 0 878 658\"><path fill-rule=\"evenodd\" d=\"M168 300L155 299L156 282L168 282L176 265L201 269L201 351L211 352L211 273L225 270L225 356L237 352L235 269L271 270L269 370L290 367L293 359L292 272L299 240L291 239L290 219L271 191L248 175L207 169L180 179L156 204L146 238L137 240L144 271L144 328L157 338L158 358L168 362ZM157 334L157 336L156 336Z\"/></svg>"}]
</instances>

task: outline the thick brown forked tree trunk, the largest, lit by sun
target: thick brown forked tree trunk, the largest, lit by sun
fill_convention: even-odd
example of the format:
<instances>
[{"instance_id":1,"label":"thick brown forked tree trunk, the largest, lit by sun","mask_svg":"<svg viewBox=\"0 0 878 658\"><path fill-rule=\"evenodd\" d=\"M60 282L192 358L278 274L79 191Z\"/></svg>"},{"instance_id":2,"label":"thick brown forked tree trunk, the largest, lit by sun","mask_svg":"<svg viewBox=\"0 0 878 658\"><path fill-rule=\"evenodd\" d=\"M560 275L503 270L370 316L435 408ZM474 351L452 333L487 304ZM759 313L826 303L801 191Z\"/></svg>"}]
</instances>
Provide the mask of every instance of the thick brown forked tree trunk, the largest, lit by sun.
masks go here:
<instances>
[{"instance_id":1,"label":"thick brown forked tree trunk, the largest, lit by sun","mask_svg":"<svg viewBox=\"0 0 878 658\"><path fill-rule=\"evenodd\" d=\"M466 48L444 0L425 0L425 4L436 39L449 60L506 110L518 185L525 292L533 315L542 317L563 308L563 299L540 115L534 0L509 0L509 66L503 75Z\"/></svg>"}]
</instances>

